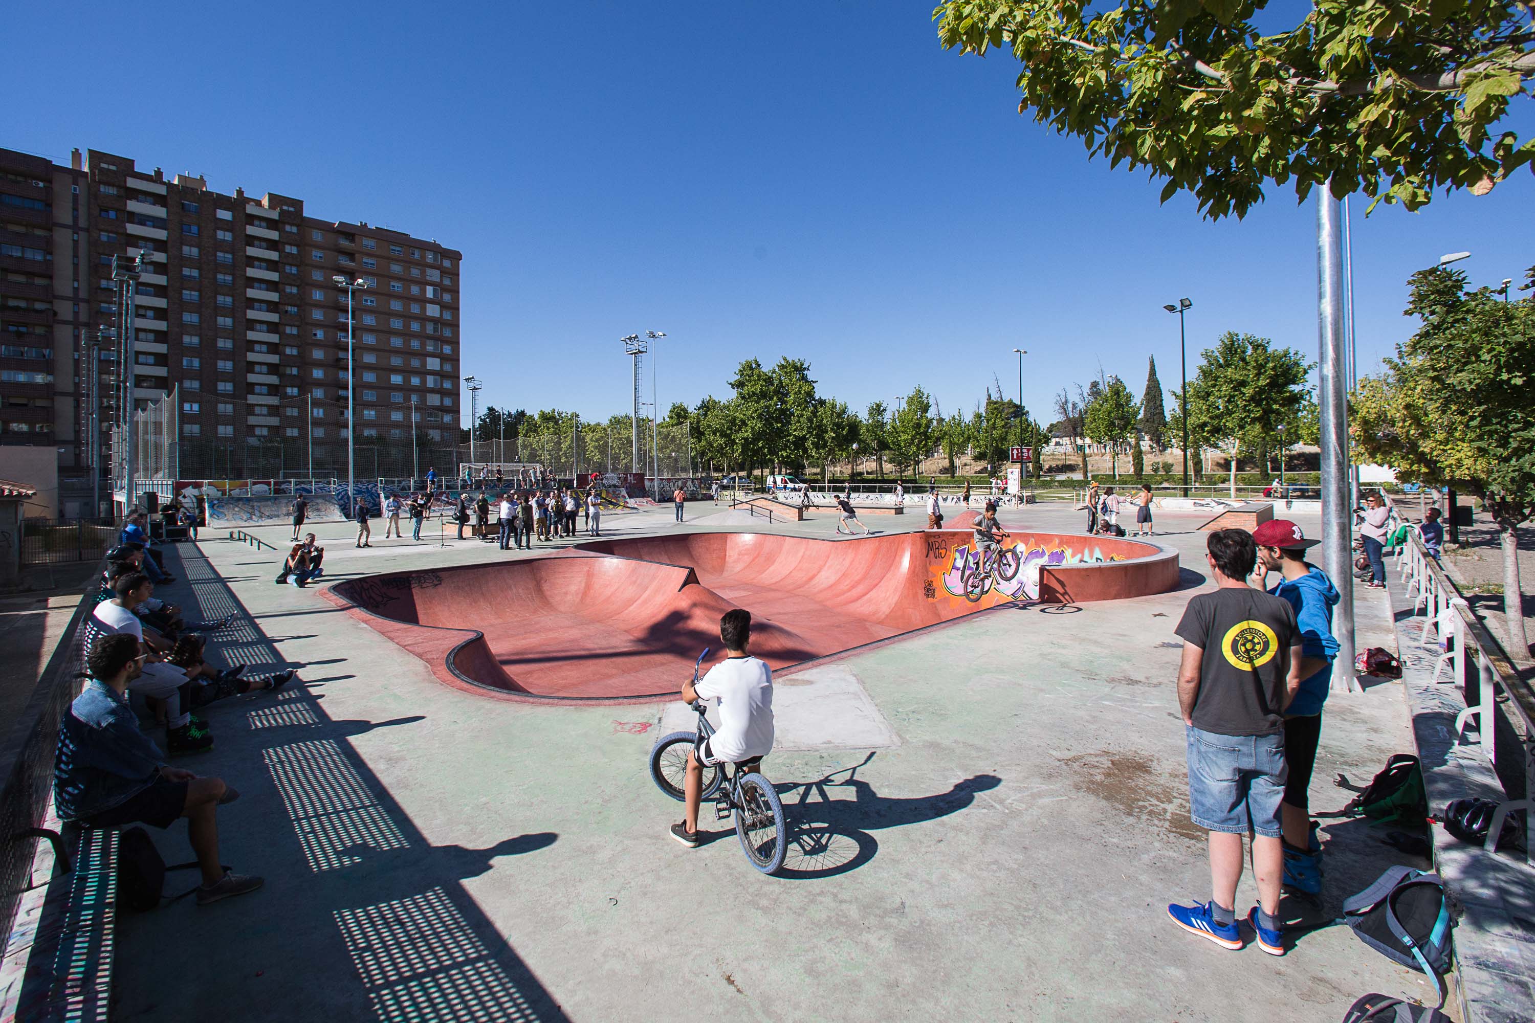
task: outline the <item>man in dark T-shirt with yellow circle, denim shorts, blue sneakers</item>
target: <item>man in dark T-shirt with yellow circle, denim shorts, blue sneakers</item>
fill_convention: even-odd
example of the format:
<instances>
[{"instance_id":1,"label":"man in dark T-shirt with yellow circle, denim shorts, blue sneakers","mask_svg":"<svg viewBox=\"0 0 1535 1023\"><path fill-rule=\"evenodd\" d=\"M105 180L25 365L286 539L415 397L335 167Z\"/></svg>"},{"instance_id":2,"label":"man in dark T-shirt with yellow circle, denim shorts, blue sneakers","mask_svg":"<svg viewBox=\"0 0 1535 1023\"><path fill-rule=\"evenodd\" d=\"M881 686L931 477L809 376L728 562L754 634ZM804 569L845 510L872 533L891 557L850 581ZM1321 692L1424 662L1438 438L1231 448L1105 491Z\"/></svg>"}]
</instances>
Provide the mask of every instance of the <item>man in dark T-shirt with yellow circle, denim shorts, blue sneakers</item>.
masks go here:
<instances>
[{"instance_id":1,"label":"man in dark T-shirt with yellow circle, denim shorts, blue sneakers","mask_svg":"<svg viewBox=\"0 0 1535 1023\"><path fill-rule=\"evenodd\" d=\"M1210 833L1211 899L1167 911L1191 934L1242 948L1236 894L1242 836L1251 830L1259 905L1248 923L1260 949L1283 956L1283 715L1300 689L1305 653L1289 603L1248 586L1257 564L1253 535L1217 529L1205 546L1216 589L1188 601L1176 632L1183 640L1177 704L1188 742L1190 819Z\"/></svg>"}]
</instances>

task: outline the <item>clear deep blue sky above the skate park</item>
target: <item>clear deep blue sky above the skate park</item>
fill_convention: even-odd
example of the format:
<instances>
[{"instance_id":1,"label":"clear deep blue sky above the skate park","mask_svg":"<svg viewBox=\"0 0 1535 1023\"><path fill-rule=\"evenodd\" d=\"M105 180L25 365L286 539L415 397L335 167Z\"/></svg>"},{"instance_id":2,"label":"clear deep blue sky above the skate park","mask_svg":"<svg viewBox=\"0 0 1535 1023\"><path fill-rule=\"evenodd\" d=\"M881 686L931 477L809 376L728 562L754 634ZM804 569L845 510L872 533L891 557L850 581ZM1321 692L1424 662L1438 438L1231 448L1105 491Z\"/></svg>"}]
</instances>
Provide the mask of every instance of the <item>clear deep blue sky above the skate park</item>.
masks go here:
<instances>
[{"instance_id":1,"label":"clear deep blue sky above the skate park","mask_svg":"<svg viewBox=\"0 0 1535 1023\"><path fill-rule=\"evenodd\" d=\"M68 57L11 48L0 146L94 146L460 248L482 403L623 411L619 337L663 330L663 408L783 354L858 408L918 383L970 408L993 374L1016 394L1022 347L1048 420L1101 367L1139 396L1151 354L1176 385L1160 307L1182 296L1191 373L1223 330L1315 359L1314 202L1276 190L1219 224L1160 206L1021 118L1012 60L941 51L930 9L17 5L8 34ZM1411 333L1403 281L1441 253L1520 281L1530 210L1526 173L1420 213L1355 204L1362 371Z\"/></svg>"}]
</instances>

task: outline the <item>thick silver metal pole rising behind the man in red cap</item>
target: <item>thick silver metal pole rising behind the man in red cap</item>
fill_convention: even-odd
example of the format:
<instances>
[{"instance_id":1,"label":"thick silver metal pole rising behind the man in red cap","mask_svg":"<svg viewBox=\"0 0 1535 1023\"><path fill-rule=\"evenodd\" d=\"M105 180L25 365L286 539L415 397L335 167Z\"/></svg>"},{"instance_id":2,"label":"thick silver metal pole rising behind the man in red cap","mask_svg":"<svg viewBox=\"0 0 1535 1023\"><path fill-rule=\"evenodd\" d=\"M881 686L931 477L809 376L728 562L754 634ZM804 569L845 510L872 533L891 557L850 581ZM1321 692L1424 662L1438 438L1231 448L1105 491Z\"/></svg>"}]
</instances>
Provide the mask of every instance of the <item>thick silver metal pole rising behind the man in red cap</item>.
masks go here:
<instances>
[{"instance_id":1,"label":"thick silver metal pole rising behind the man in red cap","mask_svg":"<svg viewBox=\"0 0 1535 1023\"><path fill-rule=\"evenodd\" d=\"M1323 186L1317 190L1317 334L1322 411L1322 555L1323 567L1339 587L1332 617L1339 641L1340 673L1332 686L1354 690L1354 572L1349 544L1352 521L1348 505L1348 345L1343 330L1343 239L1342 204Z\"/></svg>"}]
</instances>

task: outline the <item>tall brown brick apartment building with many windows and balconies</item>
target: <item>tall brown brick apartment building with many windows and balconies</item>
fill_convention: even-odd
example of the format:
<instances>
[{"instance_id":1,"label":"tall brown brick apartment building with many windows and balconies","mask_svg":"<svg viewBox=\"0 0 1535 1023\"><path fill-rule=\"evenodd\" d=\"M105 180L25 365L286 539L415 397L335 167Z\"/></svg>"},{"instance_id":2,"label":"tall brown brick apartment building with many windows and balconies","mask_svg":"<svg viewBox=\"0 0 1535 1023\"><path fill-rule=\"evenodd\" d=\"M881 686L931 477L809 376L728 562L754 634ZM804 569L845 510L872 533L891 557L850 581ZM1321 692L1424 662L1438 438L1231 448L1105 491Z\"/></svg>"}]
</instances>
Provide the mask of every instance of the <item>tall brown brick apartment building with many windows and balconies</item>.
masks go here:
<instances>
[{"instance_id":1,"label":"tall brown brick apartment building with many windows and balconies","mask_svg":"<svg viewBox=\"0 0 1535 1023\"><path fill-rule=\"evenodd\" d=\"M140 250L149 271L134 396L143 408L178 388L183 477L295 475L310 452L316 474L345 472L347 293L336 275L370 285L353 324L358 474L381 454L398 466L402 446L408 460L413 413L418 443L456 445L457 250L309 216L286 195L167 179L114 153L77 149L63 167L0 149L0 445L57 448L61 508L91 491L89 445L111 463L104 410L100 436L87 436L84 367L98 328L115 324L112 258ZM104 360L103 405L112 371Z\"/></svg>"}]
</instances>

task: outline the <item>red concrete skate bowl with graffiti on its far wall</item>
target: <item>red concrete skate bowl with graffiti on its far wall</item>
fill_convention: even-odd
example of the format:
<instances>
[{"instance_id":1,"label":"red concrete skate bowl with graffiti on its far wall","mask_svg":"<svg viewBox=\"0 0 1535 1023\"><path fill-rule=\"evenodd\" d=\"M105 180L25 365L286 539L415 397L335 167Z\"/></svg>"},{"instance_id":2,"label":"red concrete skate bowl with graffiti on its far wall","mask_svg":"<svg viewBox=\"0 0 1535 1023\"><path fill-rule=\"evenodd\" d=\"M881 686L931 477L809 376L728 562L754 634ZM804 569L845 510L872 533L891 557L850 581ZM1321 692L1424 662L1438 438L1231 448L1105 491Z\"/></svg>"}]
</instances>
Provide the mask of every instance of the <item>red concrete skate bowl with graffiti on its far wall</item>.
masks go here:
<instances>
[{"instance_id":1,"label":"red concrete skate bowl with graffiti on its far wall","mask_svg":"<svg viewBox=\"0 0 1535 1023\"><path fill-rule=\"evenodd\" d=\"M752 612L752 653L803 666L989 607L1082 603L1177 586L1177 554L1130 540L1015 534L1022 567L966 597L969 531L858 540L695 532L599 540L569 554L391 572L324 595L444 683L510 699L674 696L718 621Z\"/></svg>"}]
</instances>

